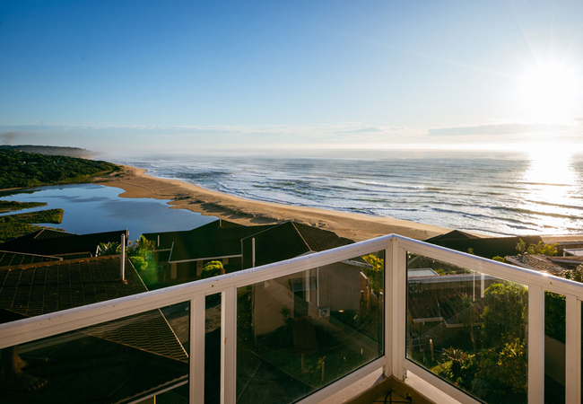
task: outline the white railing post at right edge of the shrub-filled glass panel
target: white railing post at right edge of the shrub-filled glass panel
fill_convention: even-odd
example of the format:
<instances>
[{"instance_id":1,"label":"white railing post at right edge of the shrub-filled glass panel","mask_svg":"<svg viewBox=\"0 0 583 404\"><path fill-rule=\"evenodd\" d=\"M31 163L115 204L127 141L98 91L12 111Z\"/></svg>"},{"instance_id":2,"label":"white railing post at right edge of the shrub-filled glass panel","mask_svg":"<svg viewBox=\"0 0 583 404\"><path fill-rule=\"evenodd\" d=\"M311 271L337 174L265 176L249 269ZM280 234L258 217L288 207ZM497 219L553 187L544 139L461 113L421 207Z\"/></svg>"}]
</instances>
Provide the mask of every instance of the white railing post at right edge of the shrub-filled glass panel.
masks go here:
<instances>
[{"instance_id":1,"label":"white railing post at right edge of the shrub-filled glass panel","mask_svg":"<svg viewBox=\"0 0 583 404\"><path fill-rule=\"evenodd\" d=\"M528 286L528 404L544 403L544 289Z\"/></svg>"}]
</instances>

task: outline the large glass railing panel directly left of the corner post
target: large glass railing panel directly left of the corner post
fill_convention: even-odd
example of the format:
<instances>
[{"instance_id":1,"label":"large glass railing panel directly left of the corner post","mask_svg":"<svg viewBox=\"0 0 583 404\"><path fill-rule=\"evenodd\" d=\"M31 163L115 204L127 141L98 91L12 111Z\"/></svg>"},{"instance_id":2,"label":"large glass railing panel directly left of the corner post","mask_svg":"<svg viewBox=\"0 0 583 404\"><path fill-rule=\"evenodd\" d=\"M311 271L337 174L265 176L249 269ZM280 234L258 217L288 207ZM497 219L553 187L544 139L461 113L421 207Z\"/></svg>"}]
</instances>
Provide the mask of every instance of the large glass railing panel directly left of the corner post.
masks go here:
<instances>
[{"instance_id":1,"label":"large glass railing panel directly left of the corner post","mask_svg":"<svg viewBox=\"0 0 583 404\"><path fill-rule=\"evenodd\" d=\"M382 252L238 290L237 401L292 402L383 354Z\"/></svg>"}]
</instances>

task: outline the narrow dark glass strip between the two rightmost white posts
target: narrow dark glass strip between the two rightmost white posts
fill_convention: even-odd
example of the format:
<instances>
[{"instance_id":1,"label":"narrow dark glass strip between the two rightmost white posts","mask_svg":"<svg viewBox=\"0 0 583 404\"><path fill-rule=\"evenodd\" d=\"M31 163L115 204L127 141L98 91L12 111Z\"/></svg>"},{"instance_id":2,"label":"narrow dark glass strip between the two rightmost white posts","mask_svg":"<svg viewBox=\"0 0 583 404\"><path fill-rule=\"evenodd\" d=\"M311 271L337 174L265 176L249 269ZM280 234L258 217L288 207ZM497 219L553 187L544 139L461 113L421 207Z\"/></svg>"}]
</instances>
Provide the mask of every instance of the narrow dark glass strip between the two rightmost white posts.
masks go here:
<instances>
[{"instance_id":1,"label":"narrow dark glass strip between the two rightmost white posts","mask_svg":"<svg viewBox=\"0 0 583 404\"><path fill-rule=\"evenodd\" d=\"M544 402L565 402L566 297L544 293Z\"/></svg>"}]
</instances>

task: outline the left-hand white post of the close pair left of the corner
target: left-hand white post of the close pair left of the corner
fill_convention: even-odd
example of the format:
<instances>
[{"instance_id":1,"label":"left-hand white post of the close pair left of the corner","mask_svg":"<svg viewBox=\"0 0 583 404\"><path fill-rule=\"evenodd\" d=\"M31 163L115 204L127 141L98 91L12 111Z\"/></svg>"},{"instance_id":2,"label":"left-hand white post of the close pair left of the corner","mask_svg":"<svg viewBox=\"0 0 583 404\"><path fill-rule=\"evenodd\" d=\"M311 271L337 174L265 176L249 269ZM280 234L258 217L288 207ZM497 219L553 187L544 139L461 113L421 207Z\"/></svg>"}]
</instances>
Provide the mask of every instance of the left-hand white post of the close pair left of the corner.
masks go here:
<instances>
[{"instance_id":1,"label":"left-hand white post of the close pair left of the corner","mask_svg":"<svg viewBox=\"0 0 583 404\"><path fill-rule=\"evenodd\" d=\"M204 402L204 317L206 296L198 294L190 301L190 365L188 402Z\"/></svg>"}]
</instances>

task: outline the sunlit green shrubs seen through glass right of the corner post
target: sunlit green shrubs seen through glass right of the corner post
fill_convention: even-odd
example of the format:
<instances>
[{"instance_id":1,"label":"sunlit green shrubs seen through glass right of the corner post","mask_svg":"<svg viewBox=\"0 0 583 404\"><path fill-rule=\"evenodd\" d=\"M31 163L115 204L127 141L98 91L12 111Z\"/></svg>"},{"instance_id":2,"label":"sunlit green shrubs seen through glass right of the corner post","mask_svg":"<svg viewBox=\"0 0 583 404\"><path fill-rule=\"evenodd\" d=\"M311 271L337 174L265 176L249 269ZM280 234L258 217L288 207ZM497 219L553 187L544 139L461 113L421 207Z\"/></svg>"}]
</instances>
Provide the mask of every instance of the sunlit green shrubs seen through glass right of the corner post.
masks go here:
<instances>
[{"instance_id":1,"label":"sunlit green shrubs seen through glass right of the corner post","mask_svg":"<svg viewBox=\"0 0 583 404\"><path fill-rule=\"evenodd\" d=\"M413 353L413 359L481 400L526 402L526 287L492 284L482 302L465 294L454 306L471 344L467 340L461 347L446 346L430 363L418 359L419 352ZM455 341L460 343L458 336Z\"/></svg>"}]
</instances>

